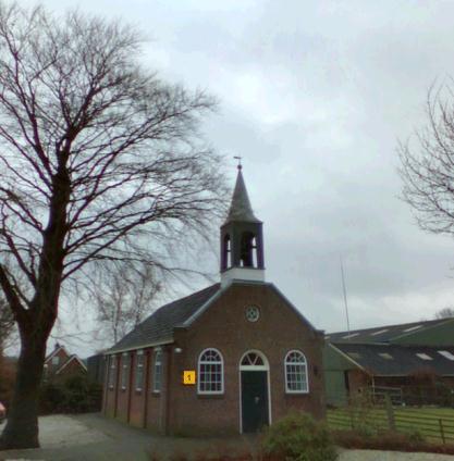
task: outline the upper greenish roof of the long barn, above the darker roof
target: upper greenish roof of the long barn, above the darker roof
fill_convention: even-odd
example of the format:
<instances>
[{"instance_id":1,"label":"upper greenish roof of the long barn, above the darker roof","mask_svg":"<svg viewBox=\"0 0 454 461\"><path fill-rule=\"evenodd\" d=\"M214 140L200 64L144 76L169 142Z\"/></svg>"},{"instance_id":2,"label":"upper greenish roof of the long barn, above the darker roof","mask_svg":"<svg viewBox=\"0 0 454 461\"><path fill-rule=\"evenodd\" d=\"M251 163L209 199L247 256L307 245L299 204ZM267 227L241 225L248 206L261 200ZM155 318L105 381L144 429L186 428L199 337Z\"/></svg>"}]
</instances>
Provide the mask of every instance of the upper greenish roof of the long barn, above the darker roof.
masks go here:
<instances>
[{"instance_id":1,"label":"upper greenish roof of the long barn, above the darker roof","mask_svg":"<svg viewBox=\"0 0 454 461\"><path fill-rule=\"evenodd\" d=\"M453 322L454 319L438 319L422 322L403 323L400 325L377 326L375 328L352 329L348 332L330 333L326 336L330 342L390 342L398 336Z\"/></svg>"}]
</instances>

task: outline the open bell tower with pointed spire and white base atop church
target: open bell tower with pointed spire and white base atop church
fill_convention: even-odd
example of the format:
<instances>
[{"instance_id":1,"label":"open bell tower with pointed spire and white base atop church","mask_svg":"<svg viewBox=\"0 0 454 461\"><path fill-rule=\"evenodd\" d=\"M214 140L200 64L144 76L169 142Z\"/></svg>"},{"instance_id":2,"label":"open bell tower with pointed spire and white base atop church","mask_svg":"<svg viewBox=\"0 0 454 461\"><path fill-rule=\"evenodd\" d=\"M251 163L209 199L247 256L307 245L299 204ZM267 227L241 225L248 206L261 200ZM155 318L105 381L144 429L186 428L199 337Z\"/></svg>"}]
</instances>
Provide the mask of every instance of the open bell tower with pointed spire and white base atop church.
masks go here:
<instances>
[{"instance_id":1,"label":"open bell tower with pointed spire and white base atop church","mask_svg":"<svg viewBox=\"0 0 454 461\"><path fill-rule=\"evenodd\" d=\"M228 217L221 226L221 284L265 282L263 223L254 215L238 164Z\"/></svg>"}]
</instances>

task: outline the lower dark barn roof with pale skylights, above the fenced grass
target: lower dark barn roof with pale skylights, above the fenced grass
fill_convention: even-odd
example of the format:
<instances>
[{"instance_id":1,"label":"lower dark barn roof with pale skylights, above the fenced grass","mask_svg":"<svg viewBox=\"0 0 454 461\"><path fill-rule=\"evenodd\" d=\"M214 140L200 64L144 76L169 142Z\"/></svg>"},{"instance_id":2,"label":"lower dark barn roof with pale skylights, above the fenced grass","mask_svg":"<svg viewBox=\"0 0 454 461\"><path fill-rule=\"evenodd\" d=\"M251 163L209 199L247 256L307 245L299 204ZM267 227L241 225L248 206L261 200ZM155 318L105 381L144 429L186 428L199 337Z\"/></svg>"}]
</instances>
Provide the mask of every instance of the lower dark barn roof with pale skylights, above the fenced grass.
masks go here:
<instances>
[{"instance_id":1,"label":"lower dark barn roof with pale skylights, above the fenced grass","mask_svg":"<svg viewBox=\"0 0 454 461\"><path fill-rule=\"evenodd\" d=\"M454 376L454 360L439 353L447 351L454 359L454 347L347 342L333 346L377 376L405 376L421 371L434 372L439 376ZM424 360L417 353L427 354L432 360Z\"/></svg>"}]
</instances>

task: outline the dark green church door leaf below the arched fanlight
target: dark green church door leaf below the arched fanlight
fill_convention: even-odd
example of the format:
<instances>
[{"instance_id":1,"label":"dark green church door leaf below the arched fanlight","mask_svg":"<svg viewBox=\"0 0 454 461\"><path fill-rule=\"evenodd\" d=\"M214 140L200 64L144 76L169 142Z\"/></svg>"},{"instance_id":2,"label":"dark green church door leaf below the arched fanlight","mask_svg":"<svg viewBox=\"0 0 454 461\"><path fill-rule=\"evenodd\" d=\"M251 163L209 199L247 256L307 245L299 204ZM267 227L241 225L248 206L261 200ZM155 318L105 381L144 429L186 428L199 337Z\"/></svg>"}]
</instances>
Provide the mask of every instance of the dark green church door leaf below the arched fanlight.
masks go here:
<instances>
[{"instance_id":1,"label":"dark green church door leaf below the arched fanlight","mask_svg":"<svg viewBox=\"0 0 454 461\"><path fill-rule=\"evenodd\" d=\"M244 433L260 431L269 424L267 372L242 371L242 421Z\"/></svg>"}]
</instances>

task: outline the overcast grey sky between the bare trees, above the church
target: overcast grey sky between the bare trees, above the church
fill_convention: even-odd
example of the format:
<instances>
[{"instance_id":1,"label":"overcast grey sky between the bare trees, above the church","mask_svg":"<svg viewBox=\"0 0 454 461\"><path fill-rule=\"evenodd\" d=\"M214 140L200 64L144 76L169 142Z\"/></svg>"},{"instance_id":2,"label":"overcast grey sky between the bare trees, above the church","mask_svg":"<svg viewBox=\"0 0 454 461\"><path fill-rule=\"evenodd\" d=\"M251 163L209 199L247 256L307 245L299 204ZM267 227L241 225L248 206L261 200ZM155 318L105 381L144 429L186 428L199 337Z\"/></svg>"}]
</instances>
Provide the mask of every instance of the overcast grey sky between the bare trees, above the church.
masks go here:
<instances>
[{"instance_id":1,"label":"overcast grey sky between the bare trees, above the church","mask_svg":"<svg viewBox=\"0 0 454 461\"><path fill-rule=\"evenodd\" d=\"M454 76L454 2L42 3L131 23L150 39L145 65L218 96L206 133L232 187L230 158L244 158L267 279L318 328L346 328L340 256L352 328L454 304L454 241L418 229L396 173L397 140L424 123L429 86Z\"/></svg>"}]
</instances>

